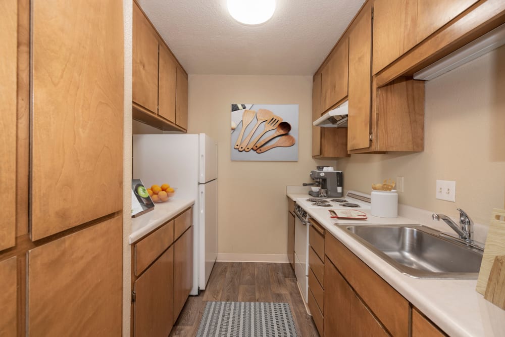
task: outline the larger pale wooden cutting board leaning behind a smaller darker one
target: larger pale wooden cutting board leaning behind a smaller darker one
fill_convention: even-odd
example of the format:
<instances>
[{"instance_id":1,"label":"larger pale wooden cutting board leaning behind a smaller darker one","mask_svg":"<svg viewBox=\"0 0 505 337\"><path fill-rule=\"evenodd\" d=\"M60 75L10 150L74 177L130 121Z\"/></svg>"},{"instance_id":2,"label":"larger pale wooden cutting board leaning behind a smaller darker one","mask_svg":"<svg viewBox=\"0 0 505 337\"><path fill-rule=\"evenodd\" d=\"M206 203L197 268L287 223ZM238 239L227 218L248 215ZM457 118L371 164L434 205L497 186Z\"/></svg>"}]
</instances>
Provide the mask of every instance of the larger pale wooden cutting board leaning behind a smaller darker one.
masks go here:
<instances>
[{"instance_id":1,"label":"larger pale wooden cutting board leaning behind a smaller darker one","mask_svg":"<svg viewBox=\"0 0 505 337\"><path fill-rule=\"evenodd\" d=\"M484 256L480 265L476 290L484 295L494 258L505 255L505 210L493 209L489 231L487 232Z\"/></svg>"}]
</instances>

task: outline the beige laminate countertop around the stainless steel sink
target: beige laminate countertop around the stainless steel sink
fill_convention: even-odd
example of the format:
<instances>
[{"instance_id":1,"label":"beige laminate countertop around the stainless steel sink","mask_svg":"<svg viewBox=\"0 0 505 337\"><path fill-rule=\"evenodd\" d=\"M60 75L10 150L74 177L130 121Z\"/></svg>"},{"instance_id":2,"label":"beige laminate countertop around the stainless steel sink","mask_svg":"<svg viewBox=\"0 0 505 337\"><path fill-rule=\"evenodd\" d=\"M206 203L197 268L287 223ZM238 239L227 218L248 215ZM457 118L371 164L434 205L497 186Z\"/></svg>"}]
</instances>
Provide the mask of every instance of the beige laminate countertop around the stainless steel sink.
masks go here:
<instances>
[{"instance_id":1,"label":"beige laminate countertop around the stainless steel sink","mask_svg":"<svg viewBox=\"0 0 505 337\"><path fill-rule=\"evenodd\" d=\"M307 198L307 194L287 193L287 196L295 201L297 198ZM404 275L345 233L336 225L338 220L329 217L326 209L307 211L450 336L505 336L505 311L484 300L475 291L477 280L417 279ZM405 214L401 215L404 219L407 218ZM391 223L398 223L398 220L391 219ZM423 222L417 223L436 227L434 223Z\"/></svg>"}]
</instances>

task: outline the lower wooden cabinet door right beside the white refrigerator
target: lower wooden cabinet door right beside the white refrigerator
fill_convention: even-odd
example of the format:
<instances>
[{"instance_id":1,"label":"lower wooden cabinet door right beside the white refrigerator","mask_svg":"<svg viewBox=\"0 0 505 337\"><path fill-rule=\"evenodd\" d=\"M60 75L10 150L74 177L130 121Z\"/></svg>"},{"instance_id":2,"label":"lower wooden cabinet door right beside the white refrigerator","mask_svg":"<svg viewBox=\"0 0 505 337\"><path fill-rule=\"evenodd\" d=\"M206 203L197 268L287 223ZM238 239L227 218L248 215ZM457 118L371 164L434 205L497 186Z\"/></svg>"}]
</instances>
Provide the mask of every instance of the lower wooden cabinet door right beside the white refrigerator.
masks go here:
<instances>
[{"instance_id":1,"label":"lower wooden cabinet door right beside the white refrigerator","mask_svg":"<svg viewBox=\"0 0 505 337\"><path fill-rule=\"evenodd\" d=\"M193 226L174 244L174 322L193 287Z\"/></svg>"}]
</instances>

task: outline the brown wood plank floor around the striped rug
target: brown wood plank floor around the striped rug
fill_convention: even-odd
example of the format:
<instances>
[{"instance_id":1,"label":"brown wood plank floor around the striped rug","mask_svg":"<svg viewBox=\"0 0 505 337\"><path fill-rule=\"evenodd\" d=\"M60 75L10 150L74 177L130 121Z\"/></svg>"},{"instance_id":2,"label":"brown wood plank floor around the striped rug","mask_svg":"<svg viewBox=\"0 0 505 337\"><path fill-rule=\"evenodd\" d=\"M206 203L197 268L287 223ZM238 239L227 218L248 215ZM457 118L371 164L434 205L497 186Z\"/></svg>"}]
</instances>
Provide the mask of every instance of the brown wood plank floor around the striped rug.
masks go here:
<instances>
[{"instance_id":1,"label":"brown wood plank floor around the striped rug","mask_svg":"<svg viewBox=\"0 0 505 337\"><path fill-rule=\"evenodd\" d=\"M319 336L289 263L216 262L207 289L189 297L170 336L195 336L207 301L287 302L298 336Z\"/></svg>"}]
</instances>

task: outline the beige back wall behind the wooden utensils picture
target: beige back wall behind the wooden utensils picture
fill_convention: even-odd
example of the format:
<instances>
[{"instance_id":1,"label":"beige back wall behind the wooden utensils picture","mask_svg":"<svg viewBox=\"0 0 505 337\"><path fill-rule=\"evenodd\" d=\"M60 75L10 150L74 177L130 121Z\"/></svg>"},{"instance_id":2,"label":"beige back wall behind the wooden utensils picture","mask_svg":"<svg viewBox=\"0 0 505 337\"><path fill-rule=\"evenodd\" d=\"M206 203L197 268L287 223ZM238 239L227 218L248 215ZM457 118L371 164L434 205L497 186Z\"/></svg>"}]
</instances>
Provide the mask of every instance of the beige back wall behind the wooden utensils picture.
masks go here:
<instances>
[{"instance_id":1,"label":"beige back wall behind the wooden utensils picture","mask_svg":"<svg viewBox=\"0 0 505 337\"><path fill-rule=\"evenodd\" d=\"M298 161L231 161L232 103L298 104ZM317 165L311 119L310 76L189 76L188 132L218 142L219 253L286 254L286 185L310 182Z\"/></svg>"}]
</instances>

